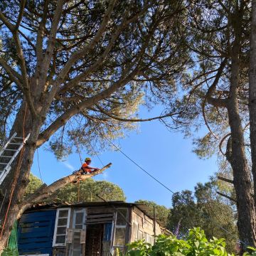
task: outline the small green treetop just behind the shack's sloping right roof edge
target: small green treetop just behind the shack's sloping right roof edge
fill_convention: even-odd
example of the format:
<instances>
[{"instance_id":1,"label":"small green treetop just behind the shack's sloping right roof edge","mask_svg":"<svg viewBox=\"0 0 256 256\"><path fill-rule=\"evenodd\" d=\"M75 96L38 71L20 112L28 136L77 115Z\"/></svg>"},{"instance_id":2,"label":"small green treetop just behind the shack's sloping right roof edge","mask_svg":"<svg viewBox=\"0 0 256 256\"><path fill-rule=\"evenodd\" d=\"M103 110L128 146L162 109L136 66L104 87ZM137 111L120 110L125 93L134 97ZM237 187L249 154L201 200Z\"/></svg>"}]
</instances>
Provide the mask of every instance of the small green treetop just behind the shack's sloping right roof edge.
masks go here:
<instances>
[{"instance_id":1,"label":"small green treetop just behind the shack's sloping right roof edge","mask_svg":"<svg viewBox=\"0 0 256 256\"><path fill-rule=\"evenodd\" d=\"M142 203L142 204L145 204L146 206L149 206L148 212L151 216L154 216L154 207L155 207L156 219L159 220L160 223L164 225L164 227L166 227L167 219L170 212L169 208L166 208L166 206L159 206L154 201L138 200L138 201L135 201L134 203Z\"/></svg>"}]
</instances>

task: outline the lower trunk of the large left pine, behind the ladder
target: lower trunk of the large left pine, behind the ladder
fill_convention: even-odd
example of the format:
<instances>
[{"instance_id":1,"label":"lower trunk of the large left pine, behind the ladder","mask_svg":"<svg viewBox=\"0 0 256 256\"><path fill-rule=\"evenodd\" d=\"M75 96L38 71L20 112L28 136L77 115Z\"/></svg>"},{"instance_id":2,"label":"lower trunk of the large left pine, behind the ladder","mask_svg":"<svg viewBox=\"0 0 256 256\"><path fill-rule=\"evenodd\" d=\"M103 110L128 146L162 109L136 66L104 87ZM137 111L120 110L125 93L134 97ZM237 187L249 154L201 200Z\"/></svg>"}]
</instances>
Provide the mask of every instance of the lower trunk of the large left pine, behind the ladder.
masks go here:
<instances>
[{"instance_id":1,"label":"lower trunk of the large left pine, behind the ladder","mask_svg":"<svg viewBox=\"0 0 256 256\"><path fill-rule=\"evenodd\" d=\"M26 103L23 103L16 115L16 120L11 129L11 134L17 132L18 137L26 137L28 133L31 133L31 135L23 146L23 149L21 149L18 156L16 156L16 159L11 166L10 174L6 176L4 183L1 184L1 191L2 193L6 193L6 196L5 198L1 198L4 200L4 203L0 211L0 251L6 246L6 240L11 232L14 220L16 220L18 211L23 204L23 194L26 186L28 185L31 165L33 163L33 155L36 151L36 140L38 139L40 127L41 124L38 120L32 119ZM12 189L14 190L13 193Z\"/></svg>"}]
</instances>

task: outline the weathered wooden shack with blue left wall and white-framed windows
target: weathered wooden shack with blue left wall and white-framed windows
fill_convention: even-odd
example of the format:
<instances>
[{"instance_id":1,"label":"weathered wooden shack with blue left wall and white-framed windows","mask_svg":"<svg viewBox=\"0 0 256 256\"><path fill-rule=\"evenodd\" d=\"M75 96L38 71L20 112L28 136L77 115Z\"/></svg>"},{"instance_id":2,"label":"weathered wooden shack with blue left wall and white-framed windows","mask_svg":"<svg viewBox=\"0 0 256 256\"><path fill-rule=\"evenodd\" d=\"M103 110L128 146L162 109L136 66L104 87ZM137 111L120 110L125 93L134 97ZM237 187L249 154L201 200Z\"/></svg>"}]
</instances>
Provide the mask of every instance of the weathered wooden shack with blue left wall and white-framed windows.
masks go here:
<instances>
[{"instance_id":1,"label":"weathered wooden shack with blue left wall and white-framed windows","mask_svg":"<svg viewBox=\"0 0 256 256\"><path fill-rule=\"evenodd\" d=\"M170 234L138 203L48 204L26 211L18 225L19 255L108 256L129 242Z\"/></svg>"}]
</instances>

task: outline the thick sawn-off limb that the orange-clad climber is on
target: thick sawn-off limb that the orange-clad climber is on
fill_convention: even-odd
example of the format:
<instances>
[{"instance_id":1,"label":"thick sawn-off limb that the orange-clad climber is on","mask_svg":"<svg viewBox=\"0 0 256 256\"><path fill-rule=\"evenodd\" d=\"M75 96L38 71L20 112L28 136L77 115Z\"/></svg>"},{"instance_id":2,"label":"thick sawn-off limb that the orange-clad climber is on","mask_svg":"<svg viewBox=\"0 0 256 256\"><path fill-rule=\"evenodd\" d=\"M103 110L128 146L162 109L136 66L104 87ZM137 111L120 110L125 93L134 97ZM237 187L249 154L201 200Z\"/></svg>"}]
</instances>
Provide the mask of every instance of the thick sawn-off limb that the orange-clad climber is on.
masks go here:
<instances>
[{"instance_id":1,"label":"thick sawn-off limb that the orange-clad climber is on","mask_svg":"<svg viewBox=\"0 0 256 256\"><path fill-rule=\"evenodd\" d=\"M18 217L20 217L26 209L33 206L33 204L41 203L44 199L48 198L55 191L58 191L58 189L63 188L65 185L69 183L77 182L77 181L85 181L87 178L92 178L93 176L102 174L102 172L110 168L110 166L112 166L112 163L107 164L102 169L93 171L91 174L86 174L86 175L71 174L69 176L60 178L58 181L55 181L49 186L46 186L46 184L43 184L40 188L38 188L38 190L35 193L33 193L33 195L28 196L28 198L25 198L26 203L24 203L23 206L21 207L21 210L18 213Z\"/></svg>"}]
</instances>

